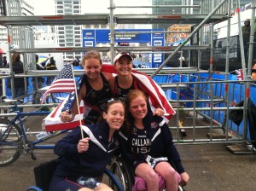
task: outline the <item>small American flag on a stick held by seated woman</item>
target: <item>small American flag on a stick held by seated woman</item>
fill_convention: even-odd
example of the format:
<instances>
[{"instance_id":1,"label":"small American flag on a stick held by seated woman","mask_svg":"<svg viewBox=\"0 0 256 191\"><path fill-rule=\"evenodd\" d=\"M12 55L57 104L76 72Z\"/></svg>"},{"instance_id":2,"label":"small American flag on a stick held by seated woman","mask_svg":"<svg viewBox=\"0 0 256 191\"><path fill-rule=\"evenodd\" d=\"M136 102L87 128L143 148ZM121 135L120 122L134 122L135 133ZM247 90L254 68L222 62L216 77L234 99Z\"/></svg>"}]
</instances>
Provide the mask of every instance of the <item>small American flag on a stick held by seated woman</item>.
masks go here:
<instances>
[{"instance_id":1,"label":"small American flag on a stick held by seated woman","mask_svg":"<svg viewBox=\"0 0 256 191\"><path fill-rule=\"evenodd\" d=\"M64 67L58 76L55 77L55 80L50 84L49 89L45 91L42 97L42 103L44 103L45 98L49 93L56 92L72 92L75 90L75 84L73 80L72 67Z\"/></svg>"}]
</instances>

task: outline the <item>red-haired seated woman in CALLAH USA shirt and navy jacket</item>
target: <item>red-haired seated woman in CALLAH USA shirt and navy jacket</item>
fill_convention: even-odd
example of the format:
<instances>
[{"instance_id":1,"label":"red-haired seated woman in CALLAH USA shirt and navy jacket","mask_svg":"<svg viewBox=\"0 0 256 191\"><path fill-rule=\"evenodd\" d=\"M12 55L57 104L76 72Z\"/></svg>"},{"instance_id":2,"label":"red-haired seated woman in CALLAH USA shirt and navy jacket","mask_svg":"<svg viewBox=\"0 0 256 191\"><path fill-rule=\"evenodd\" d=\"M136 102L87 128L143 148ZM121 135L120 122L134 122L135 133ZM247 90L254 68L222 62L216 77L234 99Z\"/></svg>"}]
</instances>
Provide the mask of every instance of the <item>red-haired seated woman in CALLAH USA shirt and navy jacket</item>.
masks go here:
<instances>
[{"instance_id":1,"label":"red-haired seated woman in CALLAH USA shirt and navy jacket","mask_svg":"<svg viewBox=\"0 0 256 191\"><path fill-rule=\"evenodd\" d=\"M141 90L131 90L127 94L128 124L119 130L119 143L131 161L135 176L145 180L148 191L159 190L158 174L166 181L167 191L177 191L177 172L183 185L189 182L189 175L181 164L168 125L161 117L153 116L147 101L148 97ZM177 172L170 165L171 161Z\"/></svg>"}]
</instances>

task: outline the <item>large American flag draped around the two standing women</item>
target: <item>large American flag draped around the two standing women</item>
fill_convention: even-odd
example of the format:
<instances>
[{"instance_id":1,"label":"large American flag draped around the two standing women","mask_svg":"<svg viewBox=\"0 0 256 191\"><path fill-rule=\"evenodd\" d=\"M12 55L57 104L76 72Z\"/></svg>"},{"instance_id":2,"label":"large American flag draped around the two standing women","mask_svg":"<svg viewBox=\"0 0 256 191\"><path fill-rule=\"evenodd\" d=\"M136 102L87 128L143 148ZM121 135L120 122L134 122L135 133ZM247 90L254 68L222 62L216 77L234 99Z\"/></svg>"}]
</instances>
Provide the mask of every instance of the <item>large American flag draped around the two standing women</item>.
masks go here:
<instances>
[{"instance_id":1,"label":"large American flag draped around the two standing women","mask_svg":"<svg viewBox=\"0 0 256 191\"><path fill-rule=\"evenodd\" d=\"M113 76L116 75L116 70L112 65L102 65L102 72L110 72L113 73ZM137 72L132 70L131 75L135 80L137 80L137 84L139 88L145 91L149 97L149 103L151 110L154 111L156 107L160 107L165 111L165 116L163 118L168 122L172 115L175 114L175 111L172 109L170 102L166 99L165 92L160 88L158 84L154 82L152 78L149 78L148 75L143 74L142 72ZM77 83L77 87L81 87L84 81L84 75L79 78ZM79 92L79 90L78 90ZM63 123L60 119L60 114L62 111L69 110L71 111L71 107L73 106L75 99L74 92L72 92L66 100L64 100L58 107L55 108L54 111L49 113L49 115L44 119L43 129L46 131L55 131L55 130L69 130L76 128L79 126L79 120L83 119L83 111L84 111L84 102L81 101L79 109L80 116L76 115L75 119L72 122ZM90 109L90 106L85 106L86 109ZM84 120L82 120L84 123Z\"/></svg>"}]
</instances>

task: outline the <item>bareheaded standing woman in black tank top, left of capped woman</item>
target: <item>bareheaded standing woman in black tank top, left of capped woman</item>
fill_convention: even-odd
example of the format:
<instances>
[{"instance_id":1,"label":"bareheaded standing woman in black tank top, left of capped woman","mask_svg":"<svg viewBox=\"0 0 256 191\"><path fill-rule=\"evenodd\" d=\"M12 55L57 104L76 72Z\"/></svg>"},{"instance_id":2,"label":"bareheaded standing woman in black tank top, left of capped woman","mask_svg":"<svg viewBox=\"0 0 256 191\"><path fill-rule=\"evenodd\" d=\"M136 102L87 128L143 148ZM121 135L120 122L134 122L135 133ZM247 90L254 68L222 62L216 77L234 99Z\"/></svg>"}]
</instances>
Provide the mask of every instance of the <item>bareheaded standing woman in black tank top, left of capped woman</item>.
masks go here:
<instances>
[{"instance_id":1,"label":"bareheaded standing woman in black tank top, left of capped woman","mask_svg":"<svg viewBox=\"0 0 256 191\"><path fill-rule=\"evenodd\" d=\"M78 93L79 103L81 100L84 101L85 124L96 124L107 101L112 98L108 81L113 78L113 75L102 72L102 58L97 51L87 52L81 61L81 66L85 74L79 79L81 80ZM73 121L76 114L78 114L78 106L75 103L71 111L62 111L61 121Z\"/></svg>"}]
</instances>

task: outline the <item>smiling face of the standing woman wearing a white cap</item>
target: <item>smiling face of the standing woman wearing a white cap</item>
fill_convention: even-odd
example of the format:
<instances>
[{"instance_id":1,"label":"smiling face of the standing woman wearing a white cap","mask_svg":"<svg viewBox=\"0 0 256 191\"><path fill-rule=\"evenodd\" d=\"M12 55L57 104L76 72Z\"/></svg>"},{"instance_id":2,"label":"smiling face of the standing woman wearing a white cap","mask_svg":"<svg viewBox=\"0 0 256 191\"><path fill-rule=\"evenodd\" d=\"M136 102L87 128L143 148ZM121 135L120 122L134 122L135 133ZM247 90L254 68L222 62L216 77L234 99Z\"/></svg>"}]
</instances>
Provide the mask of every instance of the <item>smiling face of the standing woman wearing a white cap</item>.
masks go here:
<instances>
[{"instance_id":1,"label":"smiling face of the standing woman wearing a white cap","mask_svg":"<svg viewBox=\"0 0 256 191\"><path fill-rule=\"evenodd\" d=\"M131 74L132 61L129 55L123 55L115 62L114 68L119 76L127 76Z\"/></svg>"}]
</instances>

